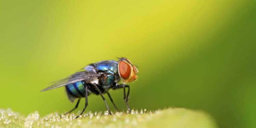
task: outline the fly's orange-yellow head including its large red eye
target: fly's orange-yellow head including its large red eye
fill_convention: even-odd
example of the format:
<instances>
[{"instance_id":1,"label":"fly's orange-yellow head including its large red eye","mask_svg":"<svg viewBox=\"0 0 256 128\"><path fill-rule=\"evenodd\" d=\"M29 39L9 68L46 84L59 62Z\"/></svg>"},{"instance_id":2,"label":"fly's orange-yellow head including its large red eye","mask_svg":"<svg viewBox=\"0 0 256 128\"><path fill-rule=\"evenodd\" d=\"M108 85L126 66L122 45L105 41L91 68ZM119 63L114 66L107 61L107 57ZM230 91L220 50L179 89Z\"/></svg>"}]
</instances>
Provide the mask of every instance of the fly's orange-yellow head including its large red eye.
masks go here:
<instances>
[{"instance_id":1,"label":"fly's orange-yellow head including its large red eye","mask_svg":"<svg viewBox=\"0 0 256 128\"><path fill-rule=\"evenodd\" d=\"M123 83L129 83L135 81L138 76L139 70L134 66L127 58L119 58L118 62L118 75L122 79Z\"/></svg>"}]
</instances>

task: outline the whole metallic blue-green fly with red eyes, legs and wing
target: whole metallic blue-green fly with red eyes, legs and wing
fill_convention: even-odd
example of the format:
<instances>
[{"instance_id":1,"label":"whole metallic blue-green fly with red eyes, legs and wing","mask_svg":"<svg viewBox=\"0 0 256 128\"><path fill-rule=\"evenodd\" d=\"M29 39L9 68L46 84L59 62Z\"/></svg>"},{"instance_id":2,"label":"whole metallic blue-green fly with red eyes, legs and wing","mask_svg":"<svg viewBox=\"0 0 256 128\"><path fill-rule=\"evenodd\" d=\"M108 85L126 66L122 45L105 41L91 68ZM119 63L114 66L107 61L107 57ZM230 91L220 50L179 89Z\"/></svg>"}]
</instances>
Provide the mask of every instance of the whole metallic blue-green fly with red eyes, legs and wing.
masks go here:
<instances>
[{"instance_id":1,"label":"whole metallic blue-green fly with red eyes, legs and wing","mask_svg":"<svg viewBox=\"0 0 256 128\"><path fill-rule=\"evenodd\" d=\"M42 91L65 86L69 101L74 102L75 99L78 99L75 108L65 114L75 110L79 105L80 99L85 98L85 107L80 114L82 115L88 105L88 96L90 94L100 95L105 102L109 114L111 115L111 111L103 94L108 94L110 101L118 111L108 90L123 88L124 101L126 103L127 109L131 112L128 105L130 86L126 85L126 83L135 81L137 79L138 72L139 71L137 67L134 66L127 58L122 57L119 58L118 61L104 60L91 63L90 65L83 68L82 71L77 71L67 78L55 82L53 85L43 89ZM127 95L125 90L126 88L128 88Z\"/></svg>"}]
</instances>

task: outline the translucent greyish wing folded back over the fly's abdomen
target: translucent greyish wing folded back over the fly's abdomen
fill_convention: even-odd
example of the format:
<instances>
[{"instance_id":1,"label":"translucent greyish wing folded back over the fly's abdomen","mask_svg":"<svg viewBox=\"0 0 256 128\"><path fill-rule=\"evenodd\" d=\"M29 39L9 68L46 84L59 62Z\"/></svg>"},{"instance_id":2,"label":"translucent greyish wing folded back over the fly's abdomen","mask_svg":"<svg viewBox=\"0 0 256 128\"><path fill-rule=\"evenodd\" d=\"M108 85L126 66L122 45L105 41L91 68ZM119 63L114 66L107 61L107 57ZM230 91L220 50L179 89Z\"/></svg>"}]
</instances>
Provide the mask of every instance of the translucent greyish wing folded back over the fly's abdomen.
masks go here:
<instances>
[{"instance_id":1,"label":"translucent greyish wing folded back over the fly's abdomen","mask_svg":"<svg viewBox=\"0 0 256 128\"><path fill-rule=\"evenodd\" d=\"M90 74L85 71L76 72L65 79L56 81L53 85L41 90L41 92L73 84L78 81L85 81L86 83L98 84L98 77L97 74Z\"/></svg>"}]
</instances>

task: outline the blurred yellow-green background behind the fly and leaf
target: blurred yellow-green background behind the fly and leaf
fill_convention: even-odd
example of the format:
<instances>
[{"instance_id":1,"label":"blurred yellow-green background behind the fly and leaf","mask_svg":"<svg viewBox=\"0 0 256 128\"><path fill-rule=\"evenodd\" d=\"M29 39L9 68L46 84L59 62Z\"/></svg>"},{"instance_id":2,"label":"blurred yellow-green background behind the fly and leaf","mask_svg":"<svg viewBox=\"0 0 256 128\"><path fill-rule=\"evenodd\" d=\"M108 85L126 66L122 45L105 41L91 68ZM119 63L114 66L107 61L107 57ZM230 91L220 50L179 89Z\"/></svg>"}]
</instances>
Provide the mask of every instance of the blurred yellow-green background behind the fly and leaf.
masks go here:
<instances>
[{"instance_id":1,"label":"blurred yellow-green background behind the fly and leaf","mask_svg":"<svg viewBox=\"0 0 256 128\"><path fill-rule=\"evenodd\" d=\"M204 110L223 128L256 127L255 6L246 0L0 1L0 108L25 115L68 111L75 103L64 88L40 90L89 63L123 56L139 69L131 108ZM123 90L110 93L126 110ZM101 97L89 97L90 110L106 110Z\"/></svg>"}]
</instances>

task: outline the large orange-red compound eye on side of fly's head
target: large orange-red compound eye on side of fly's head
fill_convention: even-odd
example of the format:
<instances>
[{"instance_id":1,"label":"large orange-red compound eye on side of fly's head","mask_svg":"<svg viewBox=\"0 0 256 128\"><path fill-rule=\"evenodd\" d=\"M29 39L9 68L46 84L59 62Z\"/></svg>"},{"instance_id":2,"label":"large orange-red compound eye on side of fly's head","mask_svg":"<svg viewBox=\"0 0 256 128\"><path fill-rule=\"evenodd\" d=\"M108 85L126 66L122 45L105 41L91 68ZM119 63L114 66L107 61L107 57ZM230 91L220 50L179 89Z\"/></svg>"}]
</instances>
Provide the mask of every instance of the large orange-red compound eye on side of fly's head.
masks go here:
<instances>
[{"instance_id":1,"label":"large orange-red compound eye on side of fly's head","mask_svg":"<svg viewBox=\"0 0 256 128\"><path fill-rule=\"evenodd\" d=\"M131 67L127 62L119 62L119 74L123 79L128 79L130 77Z\"/></svg>"}]
</instances>

